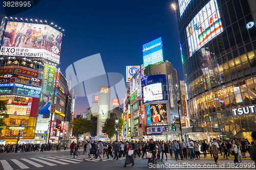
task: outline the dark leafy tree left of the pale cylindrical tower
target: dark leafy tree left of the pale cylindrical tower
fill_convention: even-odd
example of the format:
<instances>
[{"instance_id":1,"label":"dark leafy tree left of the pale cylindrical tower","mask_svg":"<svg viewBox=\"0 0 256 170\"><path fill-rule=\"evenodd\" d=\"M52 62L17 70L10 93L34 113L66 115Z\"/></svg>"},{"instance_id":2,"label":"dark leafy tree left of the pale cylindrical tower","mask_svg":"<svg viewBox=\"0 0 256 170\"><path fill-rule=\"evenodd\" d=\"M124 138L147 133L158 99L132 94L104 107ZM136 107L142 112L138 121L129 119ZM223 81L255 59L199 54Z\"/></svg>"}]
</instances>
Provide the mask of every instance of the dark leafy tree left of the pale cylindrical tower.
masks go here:
<instances>
[{"instance_id":1,"label":"dark leafy tree left of the pale cylindrical tower","mask_svg":"<svg viewBox=\"0 0 256 170\"><path fill-rule=\"evenodd\" d=\"M73 128L73 135L78 140L80 135L92 132L95 126L93 126L92 120L75 118L72 122L69 123L69 129L71 128Z\"/></svg>"}]
</instances>

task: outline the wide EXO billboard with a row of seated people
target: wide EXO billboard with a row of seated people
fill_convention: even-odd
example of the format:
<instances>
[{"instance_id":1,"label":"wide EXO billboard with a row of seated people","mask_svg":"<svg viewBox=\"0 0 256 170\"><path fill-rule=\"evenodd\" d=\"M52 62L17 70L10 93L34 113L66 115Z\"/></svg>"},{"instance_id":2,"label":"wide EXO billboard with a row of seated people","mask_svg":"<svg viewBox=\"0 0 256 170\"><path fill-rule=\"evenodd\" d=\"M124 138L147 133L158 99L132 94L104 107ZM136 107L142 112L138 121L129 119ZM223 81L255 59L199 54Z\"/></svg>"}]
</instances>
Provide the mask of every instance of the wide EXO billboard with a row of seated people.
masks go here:
<instances>
[{"instance_id":1,"label":"wide EXO billboard with a row of seated people","mask_svg":"<svg viewBox=\"0 0 256 170\"><path fill-rule=\"evenodd\" d=\"M8 21L0 55L40 57L59 63L62 33L40 23Z\"/></svg>"}]
</instances>

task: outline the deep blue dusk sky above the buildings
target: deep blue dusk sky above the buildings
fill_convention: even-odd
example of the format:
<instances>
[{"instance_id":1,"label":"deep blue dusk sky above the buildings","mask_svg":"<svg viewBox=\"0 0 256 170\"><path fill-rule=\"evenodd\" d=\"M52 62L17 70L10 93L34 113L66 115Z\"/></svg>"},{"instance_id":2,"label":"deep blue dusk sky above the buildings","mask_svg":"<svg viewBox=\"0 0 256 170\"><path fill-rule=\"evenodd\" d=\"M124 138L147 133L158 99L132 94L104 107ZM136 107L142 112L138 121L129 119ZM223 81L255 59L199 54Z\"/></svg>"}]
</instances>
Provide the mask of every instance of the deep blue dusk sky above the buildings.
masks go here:
<instances>
[{"instance_id":1,"label":"deep blue dusk sky above the buildings","mask_svg":"<svg viewBox=\"0 0 256 170\"><path fill-rule=\"evenodd\" d=\"M125 79L126 65L143 64L142 45L162 37L164 61L171 62L179 72L180 80L183 80L172 3L169 0L44 0L34 8L12 17L23 18L24 21L25 18L47 20L48 25L53 22L65 30L62 31L65 36L62 39L60 64L57 66L64 75L66 68L73 62L100 53L105 71L120 72ZM0 13L4 13L2 5ZM86 98L77 98L75 115L86 111L88 107Z\"/></svg>"}]
</instances>

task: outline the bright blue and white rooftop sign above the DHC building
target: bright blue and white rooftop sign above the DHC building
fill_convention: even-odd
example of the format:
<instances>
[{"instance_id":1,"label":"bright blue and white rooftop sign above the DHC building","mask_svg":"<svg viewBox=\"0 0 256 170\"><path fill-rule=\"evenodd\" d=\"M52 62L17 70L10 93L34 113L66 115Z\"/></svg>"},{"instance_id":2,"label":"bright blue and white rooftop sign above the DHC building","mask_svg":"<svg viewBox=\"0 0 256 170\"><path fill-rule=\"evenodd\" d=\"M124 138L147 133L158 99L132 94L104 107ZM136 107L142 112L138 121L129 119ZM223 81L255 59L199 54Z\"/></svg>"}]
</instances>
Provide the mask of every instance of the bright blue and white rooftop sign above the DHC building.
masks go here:
<instances>
[{"instance_id":1,"label":"bright blue and white rooftop sign above the DHC building","mask_svg":"<svg viewBox=\"0 0 256 170\"><path fill-rule=\"evenodd\" d=\"M161 37L144 44L142 52L144 67L163 61Z\"/></svg>"}]
</instances>

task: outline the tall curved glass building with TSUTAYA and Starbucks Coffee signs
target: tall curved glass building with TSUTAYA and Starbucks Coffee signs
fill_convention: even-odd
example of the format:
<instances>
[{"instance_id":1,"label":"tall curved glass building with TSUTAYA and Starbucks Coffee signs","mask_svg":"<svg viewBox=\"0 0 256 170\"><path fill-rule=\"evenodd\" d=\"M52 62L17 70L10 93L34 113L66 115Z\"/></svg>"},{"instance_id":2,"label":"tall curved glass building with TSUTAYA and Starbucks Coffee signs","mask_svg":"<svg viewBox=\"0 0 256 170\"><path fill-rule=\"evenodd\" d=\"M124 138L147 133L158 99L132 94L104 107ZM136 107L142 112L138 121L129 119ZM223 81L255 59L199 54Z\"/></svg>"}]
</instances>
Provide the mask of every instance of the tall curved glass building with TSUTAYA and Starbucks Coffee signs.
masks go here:
<instances>
[{"instance_id":1,"label":"tall curved glass building with TSUTAYA and Starbucks Coffee signs","mask_svg":"<svg viewBox=\"0 0 256 170\"><path fill-rule=\"evenodd\" d=\"M190 119L196 119L195 127L204 128L202 135L249 139L256 130L256 112L246 110L256 106L255 3L176 0L176 4ZM245 111L236 114L239 109Z\"/></svg>"}]
</instances>

